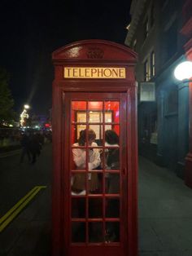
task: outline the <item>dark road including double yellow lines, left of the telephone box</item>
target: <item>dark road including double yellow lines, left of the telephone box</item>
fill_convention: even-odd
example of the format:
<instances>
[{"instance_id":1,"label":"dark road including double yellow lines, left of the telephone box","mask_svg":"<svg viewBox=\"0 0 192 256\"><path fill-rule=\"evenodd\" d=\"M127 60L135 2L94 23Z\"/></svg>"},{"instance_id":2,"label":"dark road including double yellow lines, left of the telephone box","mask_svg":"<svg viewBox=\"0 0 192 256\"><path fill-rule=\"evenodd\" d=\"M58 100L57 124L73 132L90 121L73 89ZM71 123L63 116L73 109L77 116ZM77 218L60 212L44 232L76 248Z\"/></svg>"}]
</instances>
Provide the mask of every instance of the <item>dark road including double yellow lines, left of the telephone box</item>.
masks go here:
<instances>
[{"instance_id":1,"label":"dark road including double yellow lines, left of the telephone box","mask_svg":"<svg viewBox=\"0 0 192 256\"><path fill-rule=\"evenodd\" d=\"M50 253L51 146L34 165L18 151L0 157L0 256Z\"/></svg>"}]
</instances>

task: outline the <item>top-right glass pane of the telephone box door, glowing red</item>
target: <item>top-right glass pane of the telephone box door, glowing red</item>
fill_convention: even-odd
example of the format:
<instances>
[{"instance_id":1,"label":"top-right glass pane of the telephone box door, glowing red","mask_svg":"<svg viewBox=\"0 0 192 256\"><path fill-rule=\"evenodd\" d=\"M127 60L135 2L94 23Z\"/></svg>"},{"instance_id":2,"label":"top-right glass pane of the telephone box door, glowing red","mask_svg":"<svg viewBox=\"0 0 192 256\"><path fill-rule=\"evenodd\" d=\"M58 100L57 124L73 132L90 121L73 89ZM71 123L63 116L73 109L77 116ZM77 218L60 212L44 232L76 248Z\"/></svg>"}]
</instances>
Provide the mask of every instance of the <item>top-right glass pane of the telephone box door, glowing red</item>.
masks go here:
<instances>
[{"instance_id":1,"label":"top-right glass pane of the telephone box door, glowing red","mask_svg":"<svg viewBox=\"0 0 192 256\"><path fill-rule=\"evenodd\" d=\"M120 103L119 101L105 102L105 122L120 122Z\"/></svg>"}]
</instances>

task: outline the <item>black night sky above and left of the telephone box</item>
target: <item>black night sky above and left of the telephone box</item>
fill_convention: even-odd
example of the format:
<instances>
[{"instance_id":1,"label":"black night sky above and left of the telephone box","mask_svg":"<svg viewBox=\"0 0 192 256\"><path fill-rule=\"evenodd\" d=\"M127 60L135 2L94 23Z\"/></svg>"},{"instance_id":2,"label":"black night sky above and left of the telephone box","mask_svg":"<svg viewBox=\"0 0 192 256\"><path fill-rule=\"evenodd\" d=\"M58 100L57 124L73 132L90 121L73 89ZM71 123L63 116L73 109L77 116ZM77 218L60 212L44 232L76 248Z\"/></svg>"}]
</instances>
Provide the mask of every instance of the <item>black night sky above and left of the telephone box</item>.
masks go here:
<instances>
[{"instance_id":1,"label":"black night sky above and left of the telephone box","mask_svg":"<svg viewBox=\"0 0 192 256\"><path fill-rule=\"evenodd\" d=\"M11 75L15 111L51 108L51 53L70 42L104 39L124 44L129 0L1 0L0 66Z\"/></svg>"}]
</instances>

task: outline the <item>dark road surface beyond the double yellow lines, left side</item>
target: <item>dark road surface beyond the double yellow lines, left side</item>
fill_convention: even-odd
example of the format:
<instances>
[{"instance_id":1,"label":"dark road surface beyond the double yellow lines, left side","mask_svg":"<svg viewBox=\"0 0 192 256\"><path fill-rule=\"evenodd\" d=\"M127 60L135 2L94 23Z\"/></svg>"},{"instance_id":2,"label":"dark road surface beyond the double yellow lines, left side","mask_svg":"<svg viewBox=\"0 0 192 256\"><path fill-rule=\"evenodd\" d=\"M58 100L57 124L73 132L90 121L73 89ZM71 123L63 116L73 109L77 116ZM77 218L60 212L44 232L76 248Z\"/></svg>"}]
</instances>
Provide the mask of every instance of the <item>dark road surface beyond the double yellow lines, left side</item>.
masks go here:
<instances>
[{"instance_id":1,"label":"dark road surface beyond the double yellow lines, left side","mask_svg":"<svg viewBox=\"0 0 192 256\"><path fill-rule=\"evenodd\" d=\"M0 216L35 186L49 186L51 173L50 144L42 148L35 165L20 164L20 152L0 158Z\"/></svg>"}]
</instances>

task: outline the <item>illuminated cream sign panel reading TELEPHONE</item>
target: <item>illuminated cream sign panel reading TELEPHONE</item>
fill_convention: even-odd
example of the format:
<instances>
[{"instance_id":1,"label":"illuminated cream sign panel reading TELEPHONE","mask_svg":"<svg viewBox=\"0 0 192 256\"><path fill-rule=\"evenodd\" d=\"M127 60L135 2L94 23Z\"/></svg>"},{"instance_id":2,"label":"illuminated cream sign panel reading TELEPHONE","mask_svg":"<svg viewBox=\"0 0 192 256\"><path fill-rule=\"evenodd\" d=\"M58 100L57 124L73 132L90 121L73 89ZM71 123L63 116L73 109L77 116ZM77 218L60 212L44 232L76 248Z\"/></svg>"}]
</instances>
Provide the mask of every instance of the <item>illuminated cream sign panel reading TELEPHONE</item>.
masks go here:
<instances>
[{"instance_id":1,"label":"illuminated cream sign panel reading TELEPHONE","mask_svg":"<svg viewBox=\"0 0 192 256\"><path fill-rule=\"evenodd\" d=\"M64 78L126 78L125 68L64 68Z\"/></svg>"}]
</instances>

